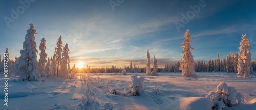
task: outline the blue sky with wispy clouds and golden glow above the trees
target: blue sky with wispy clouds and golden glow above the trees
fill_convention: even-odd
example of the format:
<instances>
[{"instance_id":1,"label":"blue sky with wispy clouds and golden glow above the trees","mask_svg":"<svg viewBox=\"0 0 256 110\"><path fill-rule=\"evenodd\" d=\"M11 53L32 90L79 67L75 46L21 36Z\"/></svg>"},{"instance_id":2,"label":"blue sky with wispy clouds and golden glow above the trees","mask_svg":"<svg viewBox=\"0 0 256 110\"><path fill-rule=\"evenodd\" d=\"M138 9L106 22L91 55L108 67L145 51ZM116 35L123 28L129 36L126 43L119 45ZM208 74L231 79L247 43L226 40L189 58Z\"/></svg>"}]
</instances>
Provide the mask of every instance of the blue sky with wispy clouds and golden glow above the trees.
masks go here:
<instances>
[{"instance_id":1,"label":"blue sky with wispy clouds and golden glow above the trees","mask_svg":"<svg viewBox=\"0 0 256 110\"><path fill-rule=\"evenodd\" d=\"M61 35L63 45L69 44L71 65L83 61L91 67L123 67L133 61L144 67L146 50L150 49L151 58L155 55L162 67L182 58L180 45L187 29L192 37L191 46L195 48L194 60L215 59L217 53L223 58L230 52L238 52L245 33L252 44L252 58L256 58L255 1L124 0L118 3L113 0L118 4L114 10L109 2L31 0L22 12L19 1L0 1L1 56L6 47L11 59L20 56L26 30L32 22L37 30L37 48L45 37L46 51L51 57ZM200 4L204 7L198 13L190 8ZM14 22L6 23L4 18L12 19L11 9L17 11L17 8L21 14ZM189 12L195 15L178 31L175 22L182 23L182 14L187 16Z\"/></svg>"}]
</instances>

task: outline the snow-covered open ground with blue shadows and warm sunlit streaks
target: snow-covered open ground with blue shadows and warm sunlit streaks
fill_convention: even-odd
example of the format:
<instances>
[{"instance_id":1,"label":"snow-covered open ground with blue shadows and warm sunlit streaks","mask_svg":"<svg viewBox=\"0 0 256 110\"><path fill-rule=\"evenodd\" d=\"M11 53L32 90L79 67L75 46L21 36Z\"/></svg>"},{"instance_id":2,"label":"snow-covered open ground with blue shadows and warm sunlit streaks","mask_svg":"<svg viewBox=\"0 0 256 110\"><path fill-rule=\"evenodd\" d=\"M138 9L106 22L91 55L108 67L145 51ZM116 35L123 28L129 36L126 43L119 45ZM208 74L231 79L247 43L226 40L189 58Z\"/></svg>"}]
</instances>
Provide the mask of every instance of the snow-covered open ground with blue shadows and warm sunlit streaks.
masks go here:
<instances>
[{"instance_id":1,"label":"snow-covered open ground with blue shadows and warm sunlit streaks","mask_svg":"<svg viewBox=\"0 0 256 110\"><path fill-rule=\"evenodd\" d=\"M209 103L205 96L210 91L216 91L220 82L226 82L244 96L244 102L232 108L226 106L225 109L256 108L255 74L248 78L236 77L236 73L196 74L198 78L182 78L181 73L159 73L159 76L143 76L143 73L76 74L74 79L49 77L42 78L40 82L18 81L11 77L8 81L8 106L2 101L0 109L206 109ZM131 75L145 78L144 93L140 96L123 95L125 86L131 82ZM0 97L4 100L5 85L3 77L0 78ZM118 94L110 94L109 89L115 87ZM86 92L91 99L89 103L85 103L86 90L89 90Z\"/></svg>"}]
</instances>

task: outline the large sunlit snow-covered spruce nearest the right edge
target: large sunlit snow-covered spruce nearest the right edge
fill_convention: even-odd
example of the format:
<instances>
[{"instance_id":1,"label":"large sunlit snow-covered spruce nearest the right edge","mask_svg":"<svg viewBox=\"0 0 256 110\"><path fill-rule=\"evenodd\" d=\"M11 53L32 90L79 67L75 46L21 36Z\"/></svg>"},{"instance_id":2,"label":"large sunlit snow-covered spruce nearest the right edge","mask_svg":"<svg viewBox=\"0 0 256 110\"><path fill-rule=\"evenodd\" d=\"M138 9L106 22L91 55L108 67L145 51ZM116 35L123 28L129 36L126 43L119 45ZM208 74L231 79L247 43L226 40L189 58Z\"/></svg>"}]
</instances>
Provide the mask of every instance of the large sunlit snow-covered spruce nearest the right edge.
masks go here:
<instances>
[{"instance_id":1,"label":"large sunlit snow-covered spruce nearest the right edge","mask_svg":"<svg viewBox=\"0 0 256 110\"><path fill-rule=\"evenodd\" d=\"M238 53L238 73L237 76L248 77L251 75L251 43L245 35L242 35L240 51Z\"/></svg>"}]
</instances>

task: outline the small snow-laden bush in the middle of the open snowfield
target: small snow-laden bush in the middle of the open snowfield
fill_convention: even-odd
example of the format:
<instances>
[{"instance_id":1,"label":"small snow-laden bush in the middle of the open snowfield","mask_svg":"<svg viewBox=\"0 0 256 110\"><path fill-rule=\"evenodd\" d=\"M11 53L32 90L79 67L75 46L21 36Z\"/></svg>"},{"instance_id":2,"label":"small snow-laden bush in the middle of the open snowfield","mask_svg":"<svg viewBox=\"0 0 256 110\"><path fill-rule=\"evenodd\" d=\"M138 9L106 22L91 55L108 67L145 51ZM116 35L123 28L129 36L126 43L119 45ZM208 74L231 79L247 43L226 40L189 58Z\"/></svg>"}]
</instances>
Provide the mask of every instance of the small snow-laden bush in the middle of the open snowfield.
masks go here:
<instances>
[{"instance_id":1,"label":"small snow-laden bush in the middle of the open snowfield","mask_svg":"<svg viewBox=\"0 0 256 110\"><path fill-rule=\"evenodd\" d=\"M129 83L129 86L125 86L124 88L124 95L129 96L139 96L144 91L144 77L138 78L135 75L131 76L131 82ZM128 89L128 90L127 90ZM127 90L127 91L126 91Z\"/></svg>"}]
</instances>

